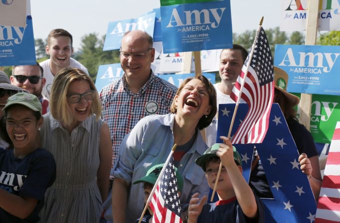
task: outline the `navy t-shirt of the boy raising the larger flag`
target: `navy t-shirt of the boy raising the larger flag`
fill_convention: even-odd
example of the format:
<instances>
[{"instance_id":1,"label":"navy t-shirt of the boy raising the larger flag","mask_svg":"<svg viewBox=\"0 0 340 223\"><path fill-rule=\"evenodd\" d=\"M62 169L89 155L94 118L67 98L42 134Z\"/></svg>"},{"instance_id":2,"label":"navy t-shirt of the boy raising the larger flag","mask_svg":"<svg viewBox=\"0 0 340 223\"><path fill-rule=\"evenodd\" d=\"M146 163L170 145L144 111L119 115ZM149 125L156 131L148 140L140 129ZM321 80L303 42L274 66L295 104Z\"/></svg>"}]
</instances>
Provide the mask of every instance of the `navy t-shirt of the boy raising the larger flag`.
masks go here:
<instances>
[{"instance_id":1,"label":"navy t-shirt of the boy raising the larger flag","mask_svg":"<svg viewBox=\"0 0 340 223\"><path fill-rule=\"evenodd\" d=\"M262 202L255 196L257 204L257 217L250 219L246 217L239 206L236 197L226 201L203 206L199 214L197 223L264 223L264 209Z\"/></svg>"}]
</instances>

